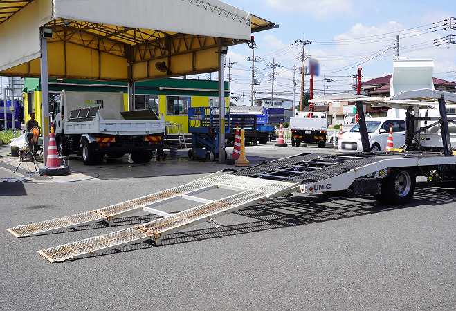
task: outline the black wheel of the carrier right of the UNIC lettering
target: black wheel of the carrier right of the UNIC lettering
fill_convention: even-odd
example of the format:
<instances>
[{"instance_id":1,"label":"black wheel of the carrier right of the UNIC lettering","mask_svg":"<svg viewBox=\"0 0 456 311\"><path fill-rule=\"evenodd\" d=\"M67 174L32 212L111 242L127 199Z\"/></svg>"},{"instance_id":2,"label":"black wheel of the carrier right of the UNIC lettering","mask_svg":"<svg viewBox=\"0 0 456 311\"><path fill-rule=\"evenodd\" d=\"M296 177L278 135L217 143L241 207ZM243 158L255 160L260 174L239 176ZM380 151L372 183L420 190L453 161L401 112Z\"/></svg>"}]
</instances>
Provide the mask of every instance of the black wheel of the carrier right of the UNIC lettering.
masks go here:
<instances>
[{"instance_id":1,"label":"black wheel of the carrier right of the UNIC lettering","mask_svg":"<svg viewBox=\"0 0 456 311\"><path fill-rule=\"evenodd\" d=\"M377 198L381 202L392 205L401 205L410 201L416 185L416 175L412 169L397 168L390 176L383 180L381 196Z\"/></svg>"}]
</instances>

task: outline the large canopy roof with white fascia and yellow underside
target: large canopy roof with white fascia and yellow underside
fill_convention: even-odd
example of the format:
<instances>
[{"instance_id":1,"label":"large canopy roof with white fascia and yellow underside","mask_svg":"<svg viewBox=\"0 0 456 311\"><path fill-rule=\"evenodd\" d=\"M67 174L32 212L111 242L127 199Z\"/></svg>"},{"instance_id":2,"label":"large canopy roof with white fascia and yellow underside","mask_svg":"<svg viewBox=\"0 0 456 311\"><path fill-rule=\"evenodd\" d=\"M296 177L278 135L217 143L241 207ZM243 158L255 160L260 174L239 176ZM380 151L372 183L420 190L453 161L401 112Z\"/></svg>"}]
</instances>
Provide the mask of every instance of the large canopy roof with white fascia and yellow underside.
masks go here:
<instances>
[{"instance_id":1,"label":"large canopy roof with white fascia and yellow underside","mask_svg":"<svg viewBox=\"0 0 456 311\"><path fill-rule=\"evenodd\" d=\"M1 1L0 75L39 77L42 26L49 77L118 81L215 71L219 46L277 27L218 0Z\"/></svg>"}]
</instances>

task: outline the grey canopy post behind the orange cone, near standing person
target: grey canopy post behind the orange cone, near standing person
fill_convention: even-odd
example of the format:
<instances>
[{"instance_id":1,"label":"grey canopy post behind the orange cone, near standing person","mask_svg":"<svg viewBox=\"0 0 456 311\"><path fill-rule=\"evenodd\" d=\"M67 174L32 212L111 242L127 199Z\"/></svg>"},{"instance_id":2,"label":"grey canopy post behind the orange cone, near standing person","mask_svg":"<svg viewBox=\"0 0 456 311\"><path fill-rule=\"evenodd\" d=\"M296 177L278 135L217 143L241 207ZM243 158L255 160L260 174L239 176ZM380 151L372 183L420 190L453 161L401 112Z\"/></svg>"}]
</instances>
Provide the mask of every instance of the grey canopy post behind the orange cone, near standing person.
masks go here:
<instances>
[{"instance_id":1,"label":"grey canopy post behind the orange cone, near standing person","mask_svg":"<svg viewBox=\"0 0 456 311\"><path fill-rule=\"evenodd\" d=\"M42 136L43 136L43 163L46 165L49 146L49 84L48 84L48 39L41 31L41 88L42 88Z\"/></svg>"}]
</instances>

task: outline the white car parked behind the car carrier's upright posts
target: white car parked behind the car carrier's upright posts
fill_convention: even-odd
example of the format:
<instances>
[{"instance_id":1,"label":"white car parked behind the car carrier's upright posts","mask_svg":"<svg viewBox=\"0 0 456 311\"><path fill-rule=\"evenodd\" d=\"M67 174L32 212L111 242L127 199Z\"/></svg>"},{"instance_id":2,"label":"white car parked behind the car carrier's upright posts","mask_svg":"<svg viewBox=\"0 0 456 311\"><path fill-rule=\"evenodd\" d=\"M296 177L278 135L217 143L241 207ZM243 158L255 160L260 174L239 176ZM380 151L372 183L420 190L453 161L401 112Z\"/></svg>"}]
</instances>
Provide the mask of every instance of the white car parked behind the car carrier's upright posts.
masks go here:
<instances>
[{"instance_id":1,"label":"white car parked behind the car carrier's upright posts","mask_svg":"<svg viewBox=\"0 0 456 311\"><path fill-rule=\"evenodd\" d=\"M366 120L367 132L372 151L386 151L388 135L390 134L390 124L392 124L392 136L394 148L400 148L405 144L405 121L391 119L388 117L375 117ZM341 152L361 152L361 135L359 124L355 124L352 129L341 135L338 140L338 148Z\"/></svg>"}]
</instances>

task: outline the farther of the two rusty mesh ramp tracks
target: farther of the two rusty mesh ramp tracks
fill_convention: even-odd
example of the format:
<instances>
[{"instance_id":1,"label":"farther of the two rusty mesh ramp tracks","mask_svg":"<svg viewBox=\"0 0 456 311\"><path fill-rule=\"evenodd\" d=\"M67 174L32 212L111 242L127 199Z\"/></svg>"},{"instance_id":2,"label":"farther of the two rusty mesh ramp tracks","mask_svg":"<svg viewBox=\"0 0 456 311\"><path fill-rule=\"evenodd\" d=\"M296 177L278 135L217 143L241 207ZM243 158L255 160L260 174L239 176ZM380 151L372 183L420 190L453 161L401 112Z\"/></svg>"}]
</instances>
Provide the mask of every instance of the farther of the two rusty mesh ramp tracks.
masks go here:
<instances>
[{"instance_id":1,"label":"farther of the two rusty mesh ramp tracks","mask_svg":"<svg viewBox=\"0 0 456 311\"><path fill-rule=\"evenodd\" d=\"M149 194L133 200L104 207L102 209L94 209L84 213L55 218L51 220L41 221L39 223L32 223L28 225L19 225L7 229L12 236L16 238L24 238L26 236L37 236L40 234L61 231L81 225L89 225L91 223L98 223L100 221L111 221L114 218L125 216L134 213L147 205L162 202L172 198L179 198L183 194L191 194L195 191L201 191L217 185L225 185L226 187L239 187L242 189L253 189L257 187L258 180L251 182L246 180L244 176L232 176L222 174L213 176L206 179L195 180L179 187L174 187L164 191L159 191L156 194Z\"/></svg>"}]
</instances>

